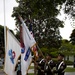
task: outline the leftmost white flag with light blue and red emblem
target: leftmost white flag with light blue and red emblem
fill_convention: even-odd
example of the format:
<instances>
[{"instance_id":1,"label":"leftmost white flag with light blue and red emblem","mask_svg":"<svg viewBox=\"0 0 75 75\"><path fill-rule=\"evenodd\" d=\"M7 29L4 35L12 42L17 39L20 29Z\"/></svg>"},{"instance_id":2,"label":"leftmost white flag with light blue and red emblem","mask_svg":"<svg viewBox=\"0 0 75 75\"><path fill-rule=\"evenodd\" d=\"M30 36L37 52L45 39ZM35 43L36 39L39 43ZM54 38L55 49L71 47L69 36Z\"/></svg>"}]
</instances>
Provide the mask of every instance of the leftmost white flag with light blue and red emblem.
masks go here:
<instances>
[{"instance_id":1,"label":"leftmost white flag with light blue and red emblem","mask_svg":"<svg viewBox=\"0 0 75 75\"><path fill-rule=\"evenodd\" d=\"M20 43L8 29L6 31L6 37L4 71L7 75L16 75L15 67L21 55Z\"/></svg>"}]
</instances>

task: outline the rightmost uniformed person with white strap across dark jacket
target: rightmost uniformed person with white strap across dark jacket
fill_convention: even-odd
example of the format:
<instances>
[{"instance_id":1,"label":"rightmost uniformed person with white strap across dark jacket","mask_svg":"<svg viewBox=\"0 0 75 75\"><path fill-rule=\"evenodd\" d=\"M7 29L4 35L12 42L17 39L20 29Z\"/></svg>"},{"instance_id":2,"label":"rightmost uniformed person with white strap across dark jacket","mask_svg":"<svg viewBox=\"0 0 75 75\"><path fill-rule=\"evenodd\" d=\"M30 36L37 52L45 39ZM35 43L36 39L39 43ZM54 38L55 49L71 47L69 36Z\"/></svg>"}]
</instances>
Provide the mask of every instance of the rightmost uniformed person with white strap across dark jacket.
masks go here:
<instances>
[{"instance_id":1,"label":"rightmost uniformed person with white strap across dark jacket","mask_svg":"<svg viewBox=\"0 0 75 75\"><path fill-rule=\"evenodd\" d=\"M59 54L58 55L58 63L56 64L56 70L54 70L54 73L56 73L57 75L64 75L65 73L65 68L66 68L66 64L64 62L64 55L63 54Z\"/></svg>"}]
</instances>

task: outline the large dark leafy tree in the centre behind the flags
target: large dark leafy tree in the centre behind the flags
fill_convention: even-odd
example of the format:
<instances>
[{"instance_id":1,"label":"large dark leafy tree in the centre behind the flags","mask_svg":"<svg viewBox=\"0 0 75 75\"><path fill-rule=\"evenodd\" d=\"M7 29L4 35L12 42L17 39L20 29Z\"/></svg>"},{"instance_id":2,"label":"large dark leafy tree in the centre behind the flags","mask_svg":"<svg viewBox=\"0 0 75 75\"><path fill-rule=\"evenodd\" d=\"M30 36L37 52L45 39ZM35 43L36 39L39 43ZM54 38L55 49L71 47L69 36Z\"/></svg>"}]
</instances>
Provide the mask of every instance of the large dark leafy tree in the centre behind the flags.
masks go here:
<instances>
[{"instance_id":1,"label":"large dark leafy tree in the centre behind the flags","mask_svg":"<svg viewBox=\"0 0 75 75\"><path fill-rule=\"evenodd\" d=\"M20 21L16 18L17 14L22 16L28 27L32 25L34 37L40 47L59 48L61 45L59 27L63 27L63 22L56 16L65 1L17 0L19 5L13 8L12 17L15 17L18 28Z\"/></svg>"}]
</instances>

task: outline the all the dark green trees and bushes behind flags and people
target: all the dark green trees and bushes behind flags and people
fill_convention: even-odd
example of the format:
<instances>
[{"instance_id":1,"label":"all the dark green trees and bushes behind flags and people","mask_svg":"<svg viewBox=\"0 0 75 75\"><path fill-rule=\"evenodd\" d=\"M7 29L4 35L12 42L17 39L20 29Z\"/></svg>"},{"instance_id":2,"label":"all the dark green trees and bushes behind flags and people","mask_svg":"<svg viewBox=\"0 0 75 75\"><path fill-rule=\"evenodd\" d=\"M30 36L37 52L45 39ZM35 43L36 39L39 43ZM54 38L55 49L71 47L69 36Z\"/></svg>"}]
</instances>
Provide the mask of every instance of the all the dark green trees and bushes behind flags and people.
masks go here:
<instances>
[{"instance_id":1,"label":"all the dark green trees and bushes behind flags and people","mask_svg":"<svg viewBox=\"0 0 75 75\"><path fill-rule=\"evenodd\" d=\"M12 17L15 18L17 33L20 39L18 15L20 14L28 28L32 29L34 38L43 53L50 53L56 57L59 52L65 55L75 55L75 29L70 40L63 40L59 28L64 22L57 18L64 4L64 12L75 20L75 0L16 0L18 7L13 8ZM74 23L73 25L74 26ZM0 54L4 53L4 29L0 26Z\"/></svg>"}]
</instances>

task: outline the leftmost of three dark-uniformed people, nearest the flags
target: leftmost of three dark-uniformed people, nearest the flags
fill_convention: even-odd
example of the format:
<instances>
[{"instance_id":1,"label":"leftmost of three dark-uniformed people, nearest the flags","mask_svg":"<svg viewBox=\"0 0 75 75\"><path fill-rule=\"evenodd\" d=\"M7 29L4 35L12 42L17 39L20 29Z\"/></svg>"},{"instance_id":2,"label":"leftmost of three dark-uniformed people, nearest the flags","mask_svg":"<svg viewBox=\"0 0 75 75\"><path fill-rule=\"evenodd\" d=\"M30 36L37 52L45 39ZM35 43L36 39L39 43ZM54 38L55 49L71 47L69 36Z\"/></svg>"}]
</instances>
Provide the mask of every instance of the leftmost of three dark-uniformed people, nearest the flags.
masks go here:
<instances>
[{"instance_id":1,"label":"leftmost of three dark-uniformed people, nearest the flags","mask_svg":"<svg viewBox=\"0 0 75 75\"><path fill-rule=\"evenodd\" d=\"M41 54L39 54L39 58L37 61L37 75L45 75L44 65L45 65L45 59L42 57Z\"/></svg>"}]
</instances>

